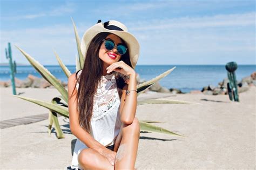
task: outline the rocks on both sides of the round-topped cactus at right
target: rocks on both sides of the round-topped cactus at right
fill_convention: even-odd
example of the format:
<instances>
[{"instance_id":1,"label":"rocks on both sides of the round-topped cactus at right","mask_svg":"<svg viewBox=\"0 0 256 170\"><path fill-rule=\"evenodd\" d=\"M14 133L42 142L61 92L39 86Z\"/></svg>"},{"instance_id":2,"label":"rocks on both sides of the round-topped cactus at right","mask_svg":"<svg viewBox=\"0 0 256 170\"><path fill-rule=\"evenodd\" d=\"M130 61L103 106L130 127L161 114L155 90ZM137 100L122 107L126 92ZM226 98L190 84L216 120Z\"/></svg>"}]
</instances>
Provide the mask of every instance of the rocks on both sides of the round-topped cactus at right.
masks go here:
<instances>
[{"instance_id":1,"label":"rocks on both sides of the round-topped cactus at right","mask_svg":"<svg viewBox=\"0 0 256 170\"><path fill-rule=\"evenodd\" d=\"M201 91L191 91L190 93L203 93L208 95L227 94L228 78L219 82L218 86L208 85L203 87ZM256 86L256 72L253 72L251 76L244 77L240 81L237 81L238 93L247 91L250 86Z\"/></svg>"}]
</instances>

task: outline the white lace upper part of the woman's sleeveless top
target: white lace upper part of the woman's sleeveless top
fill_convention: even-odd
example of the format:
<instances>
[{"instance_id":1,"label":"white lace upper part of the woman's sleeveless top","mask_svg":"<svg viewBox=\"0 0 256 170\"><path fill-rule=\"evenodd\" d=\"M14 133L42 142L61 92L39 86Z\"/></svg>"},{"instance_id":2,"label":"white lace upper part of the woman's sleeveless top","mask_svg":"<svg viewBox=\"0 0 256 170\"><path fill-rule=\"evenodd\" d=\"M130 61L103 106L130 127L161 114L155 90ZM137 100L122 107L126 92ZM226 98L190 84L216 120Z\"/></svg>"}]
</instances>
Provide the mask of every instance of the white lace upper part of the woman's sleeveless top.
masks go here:
<instances>
[{"instance_id":1,"label":"white lace upper part of the woman's sleeveless top","mask_svg":"<svg viewBox=\"0 0 256 170\"><path fill-rule=\"evenodd\" d=\"M78 72L78 76L80 73ZM77 83L76 87L78 89L79 84ZM114 77L113 72L111 74L106 74L100 79L100 83L97 87L97 91L93 97L93 111L92 111L92 120L98 120L108 111L112 110L114 106L120 104L120 99L117 90L116 78Z\"/></svg>"}]
</instances>

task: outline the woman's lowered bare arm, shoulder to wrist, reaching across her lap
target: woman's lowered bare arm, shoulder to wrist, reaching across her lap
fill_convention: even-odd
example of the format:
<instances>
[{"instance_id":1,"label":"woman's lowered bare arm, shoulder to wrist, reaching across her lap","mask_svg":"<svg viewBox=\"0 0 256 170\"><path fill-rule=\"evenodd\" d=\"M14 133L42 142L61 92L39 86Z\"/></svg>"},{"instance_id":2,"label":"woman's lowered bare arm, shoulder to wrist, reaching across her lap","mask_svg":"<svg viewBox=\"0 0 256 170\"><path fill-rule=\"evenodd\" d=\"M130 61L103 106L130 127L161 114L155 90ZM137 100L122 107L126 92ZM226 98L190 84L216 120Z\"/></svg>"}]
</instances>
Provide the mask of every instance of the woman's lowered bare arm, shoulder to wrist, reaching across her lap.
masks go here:
<instances>
[{"instance_id":1,"label":"woman's lowered bare arm, shoulder to wrist, reaching across her lap","mask_svg":"<svg viewBox=\"0 0 256 170\"><path fill-rule=\"evenodd\" d=\"M70 121L70 131L75 135L80 141L82 141L87 147L95 149L101 152L105 149L105 146L100 144L95 140L88 132L86 132L79 124L79 114L77 110L77 89L73 92L76 86L76 74L71 74L68 81L68 94L69 94L69 121ZM73 96L71 93L73 92Z\"/></svg>"}]
</instances>

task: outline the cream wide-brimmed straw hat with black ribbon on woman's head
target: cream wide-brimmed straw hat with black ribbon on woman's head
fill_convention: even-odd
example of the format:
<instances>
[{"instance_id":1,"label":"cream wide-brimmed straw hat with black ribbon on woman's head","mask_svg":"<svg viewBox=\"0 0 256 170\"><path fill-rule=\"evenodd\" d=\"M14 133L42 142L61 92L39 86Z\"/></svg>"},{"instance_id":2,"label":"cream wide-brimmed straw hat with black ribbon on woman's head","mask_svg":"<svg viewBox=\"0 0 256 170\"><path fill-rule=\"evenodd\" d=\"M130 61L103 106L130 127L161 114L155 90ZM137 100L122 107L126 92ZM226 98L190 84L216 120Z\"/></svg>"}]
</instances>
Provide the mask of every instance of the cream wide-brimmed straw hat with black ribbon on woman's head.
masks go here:
<instances>
[{"instance_id":1,"label":"cream wide-brimmed straw hat with black ribbon on woman's head","mask_svg":"<svg viewBox=\"0 0 256 170\"><path fill-rule=\"evenodd\" d=\"M87 47L92 38L100 32L110 32L124 40L129 50L131 64L134 69L139 58L139 43L138 40L128 32L126 26L118 21L110 20L102 23L102 21L99 20L97 24L85 31L80 46L83 56L86 56Z\"/></svg>"}]
</instances>

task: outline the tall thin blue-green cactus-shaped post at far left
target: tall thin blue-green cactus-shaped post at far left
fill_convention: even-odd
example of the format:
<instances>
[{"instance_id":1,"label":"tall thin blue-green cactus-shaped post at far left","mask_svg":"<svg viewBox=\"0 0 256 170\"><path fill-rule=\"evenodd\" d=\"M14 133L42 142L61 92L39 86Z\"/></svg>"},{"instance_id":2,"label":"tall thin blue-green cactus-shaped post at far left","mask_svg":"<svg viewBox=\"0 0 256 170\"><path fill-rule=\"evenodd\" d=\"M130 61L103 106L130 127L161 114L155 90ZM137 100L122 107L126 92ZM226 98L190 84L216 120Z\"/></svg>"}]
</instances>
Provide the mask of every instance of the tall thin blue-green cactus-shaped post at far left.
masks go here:
<instances>
[{"instance_id":1,"label":"tall thin blue-green cactus-shaped post at far left","mask_svg":"<svg viewBox=\"0 0 256 170\"><path fill-rule=\"evenodd\" d=\"M16 63L12 63L12 56L11 56L11 44L8 43L8 52L7 49L5 48L5 56L6 59L9 60L9 65L10 65L10 78L11 78L11 86L12 86L12 94L16 95L16 87L15 87L15 80L14 80L14 75L16 73Z\"/></svg>"}]
</instances>

